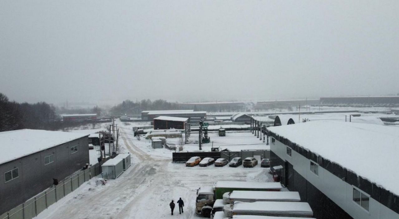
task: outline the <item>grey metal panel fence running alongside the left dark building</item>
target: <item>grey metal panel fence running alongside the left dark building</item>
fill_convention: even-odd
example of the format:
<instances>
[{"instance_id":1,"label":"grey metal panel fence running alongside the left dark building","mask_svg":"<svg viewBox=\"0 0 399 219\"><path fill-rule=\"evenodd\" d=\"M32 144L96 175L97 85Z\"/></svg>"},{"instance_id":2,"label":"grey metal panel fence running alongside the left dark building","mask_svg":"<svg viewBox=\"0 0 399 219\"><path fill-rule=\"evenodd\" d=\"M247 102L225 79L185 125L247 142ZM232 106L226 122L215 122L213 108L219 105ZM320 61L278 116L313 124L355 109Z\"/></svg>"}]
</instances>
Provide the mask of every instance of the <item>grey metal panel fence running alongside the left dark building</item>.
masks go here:
<instances>
[{"instance_id":1,"label":"grey metal panel fence running alongside the left dark building","mask_svg":"<svg viewBox=\"0 0 399 219\"><path fill-rule=\"evenodd\" d=\"M53 185L47 188L35 197L2 214L0 219L32 219L36 217L47 207L79 188L84 182L101 174L101 165L110 158L65 178L57 186Z\"/></svg>"}]
</instances>

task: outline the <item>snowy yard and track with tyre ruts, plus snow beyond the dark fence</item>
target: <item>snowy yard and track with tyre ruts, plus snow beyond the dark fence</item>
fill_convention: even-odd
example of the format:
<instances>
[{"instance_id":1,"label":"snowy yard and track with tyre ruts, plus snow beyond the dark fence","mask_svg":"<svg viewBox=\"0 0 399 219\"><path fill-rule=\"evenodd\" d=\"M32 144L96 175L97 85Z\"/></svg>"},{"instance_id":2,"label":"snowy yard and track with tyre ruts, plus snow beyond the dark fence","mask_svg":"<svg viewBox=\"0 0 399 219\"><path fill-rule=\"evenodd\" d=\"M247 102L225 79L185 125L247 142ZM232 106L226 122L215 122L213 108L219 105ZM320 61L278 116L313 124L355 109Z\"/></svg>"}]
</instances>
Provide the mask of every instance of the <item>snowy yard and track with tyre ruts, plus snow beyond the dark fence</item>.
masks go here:
<instances>
[{"instance_id":1,"label":"snowy yard and track with tyre ruts, plus snow beyond the dark fence","mask_svg":"<svg viewBox=\"0 0 399 219\"><path fill-rule=\"evenodd\" d=\"M119 125L118 125L119 126ZM196 189L212 186L218 180L249 182L271 181L269 168L186 167L172 163L172 152L152 149L147 140L138 141L130 127L120 125L120 151L132 154L132 166L116 180L108 180L105 186L96 186L97 177L89 180L59 202L38 215L38 219L119 219L119 218L200 218L195 214ZM227 132L225 137L209 134L214 145L222 149L268 149L250 132ZM190 141L198 134L193 133ZM169 140L169 139L168 139ZM176 139L177 140L177 139ZM209 151L210 144L203 145ZM184 145L185 151L198 150L198 144ZM95 150L90 150L94 151ZM182 197L184 213L175 208L170 215L169 203Z\"/></svg>"}]
</instances>

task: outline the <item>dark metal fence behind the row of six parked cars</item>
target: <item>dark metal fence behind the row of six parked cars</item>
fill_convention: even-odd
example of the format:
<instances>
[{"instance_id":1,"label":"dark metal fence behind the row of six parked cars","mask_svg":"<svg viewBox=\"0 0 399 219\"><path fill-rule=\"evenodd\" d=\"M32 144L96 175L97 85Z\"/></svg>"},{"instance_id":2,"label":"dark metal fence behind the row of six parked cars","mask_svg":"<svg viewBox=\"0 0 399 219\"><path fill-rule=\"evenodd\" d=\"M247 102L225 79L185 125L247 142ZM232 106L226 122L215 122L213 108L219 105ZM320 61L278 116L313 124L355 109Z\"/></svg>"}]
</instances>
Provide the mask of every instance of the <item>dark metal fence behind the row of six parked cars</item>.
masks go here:
<instances>
[{"instance_id":1,"label":"dark metal fence behind the row of six parked cars","mask_svg":"<svg viewBox=\"0 0 399 219\"><path fill-rule=\"evenodd\" d=\"M172 162L184 163L193 156L199 156L201 159L211 157L215 160L217 158L225 158L231 161L235 157L253 157L261 156L262 158L270 158L270 150L251 150L251 151L219 151L219 152L175 152L172 154Z\"/></svg>"}]
</instances>

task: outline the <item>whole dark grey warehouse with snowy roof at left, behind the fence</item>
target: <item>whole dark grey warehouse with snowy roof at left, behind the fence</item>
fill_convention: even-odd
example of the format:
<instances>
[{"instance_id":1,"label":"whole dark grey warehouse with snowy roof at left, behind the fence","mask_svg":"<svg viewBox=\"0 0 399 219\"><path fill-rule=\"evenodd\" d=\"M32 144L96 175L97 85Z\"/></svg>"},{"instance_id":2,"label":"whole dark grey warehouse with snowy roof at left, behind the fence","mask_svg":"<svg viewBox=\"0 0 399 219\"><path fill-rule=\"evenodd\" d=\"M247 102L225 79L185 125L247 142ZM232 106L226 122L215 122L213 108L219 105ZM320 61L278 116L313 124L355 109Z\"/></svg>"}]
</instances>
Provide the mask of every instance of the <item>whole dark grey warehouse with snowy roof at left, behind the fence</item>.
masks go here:
<instances>
[{"instance_id":1,"label":"whole dark grey warehouse with snowy roof at left, behind the fence","mask_svg":"<svg viewBox=\"0 0 399 219\"><path fill-rule=\"evenodd\" d=\"M0 215L89 163L88 135L21 129L0 132Z\"/></svg>"}]
</instances>

